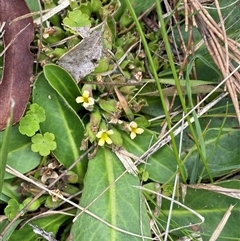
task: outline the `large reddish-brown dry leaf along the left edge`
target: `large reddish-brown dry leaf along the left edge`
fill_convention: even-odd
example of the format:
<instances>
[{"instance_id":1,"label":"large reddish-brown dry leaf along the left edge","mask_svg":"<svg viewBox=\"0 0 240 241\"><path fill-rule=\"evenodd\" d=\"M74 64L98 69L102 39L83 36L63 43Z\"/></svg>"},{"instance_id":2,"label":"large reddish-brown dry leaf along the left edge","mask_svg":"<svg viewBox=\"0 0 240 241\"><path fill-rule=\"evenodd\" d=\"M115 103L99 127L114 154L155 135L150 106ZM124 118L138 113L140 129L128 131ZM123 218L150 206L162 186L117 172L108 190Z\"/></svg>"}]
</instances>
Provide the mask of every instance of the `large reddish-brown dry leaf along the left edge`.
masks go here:
<instances>
[{"instance_id":1,"label":"large reddish-brown dry leaf along the left edge","mask_svg":"<svg viewBox=\"0 0 240 241\"><path fill-rule=\"evenodd\" d=\"M12 42L4 55L0 85L0 130L6 127L11 98L15 102L13 123L16 123L24 114L31 92L34 57L29 47L34 37L33 20L29 17L11 22L28 13L30 11L24 0L0 0L0 23L5 22L4 47Z\"/></svg>"}]
</instances>

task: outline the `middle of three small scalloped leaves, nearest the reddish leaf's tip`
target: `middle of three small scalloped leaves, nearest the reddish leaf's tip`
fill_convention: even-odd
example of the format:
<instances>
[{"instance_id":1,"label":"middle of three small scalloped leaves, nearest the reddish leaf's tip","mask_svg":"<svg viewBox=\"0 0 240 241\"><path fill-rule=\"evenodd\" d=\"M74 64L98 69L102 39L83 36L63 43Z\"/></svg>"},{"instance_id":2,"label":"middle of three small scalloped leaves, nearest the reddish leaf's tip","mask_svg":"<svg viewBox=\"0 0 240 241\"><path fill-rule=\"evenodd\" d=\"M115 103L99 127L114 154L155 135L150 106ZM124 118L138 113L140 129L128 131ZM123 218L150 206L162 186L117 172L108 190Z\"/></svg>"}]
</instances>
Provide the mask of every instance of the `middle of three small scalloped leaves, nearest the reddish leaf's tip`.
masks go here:
<instances>
[{"instance_id":1,"label":"middle of three small scalloped leaves, nearest the reddish leaf's tip","mask_svg":"<svg viewBox=\"0 0 240 241\"><path fill-rule=\"evenodd\" d=\"M33 115L26 115L20 120L18 130L21 134L31 137L39 130L39 122Z\"/></svg>"}]
</instances>

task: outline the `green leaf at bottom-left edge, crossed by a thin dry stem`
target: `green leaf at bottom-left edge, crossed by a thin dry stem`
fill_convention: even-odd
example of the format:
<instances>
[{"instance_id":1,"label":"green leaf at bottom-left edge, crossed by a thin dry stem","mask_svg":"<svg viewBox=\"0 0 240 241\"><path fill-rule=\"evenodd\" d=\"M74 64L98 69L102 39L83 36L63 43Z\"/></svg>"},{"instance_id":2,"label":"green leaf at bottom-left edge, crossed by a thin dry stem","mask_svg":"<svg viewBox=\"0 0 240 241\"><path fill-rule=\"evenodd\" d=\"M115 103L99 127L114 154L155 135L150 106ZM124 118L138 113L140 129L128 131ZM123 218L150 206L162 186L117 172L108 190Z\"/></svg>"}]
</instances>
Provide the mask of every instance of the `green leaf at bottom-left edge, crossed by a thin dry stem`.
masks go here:
<instances>
[{"instance_id":1,"label":"green leaf at bottom-left edge, crossed by a thin dry stem","mask_svg":"<svg viewBox=\"0 0 240 241\"><path fill-rule=\"evenodd\" d=\"M35 226L38 226L39 228L43 229L46 232L52 232L53 236L55 236L59 230L59 227L63 224L63 222L65 222L68 219L69 219L68 215L62 215L58 213L58 214L49 215L44 218L31 221L30 223ZM41 240L40 238L41 236L34 233L32 227L26 224L21 229L16 230L10 237L9 241L16 241L16 240L36 241L36 240Z\"/></svg>"}]
</instances>

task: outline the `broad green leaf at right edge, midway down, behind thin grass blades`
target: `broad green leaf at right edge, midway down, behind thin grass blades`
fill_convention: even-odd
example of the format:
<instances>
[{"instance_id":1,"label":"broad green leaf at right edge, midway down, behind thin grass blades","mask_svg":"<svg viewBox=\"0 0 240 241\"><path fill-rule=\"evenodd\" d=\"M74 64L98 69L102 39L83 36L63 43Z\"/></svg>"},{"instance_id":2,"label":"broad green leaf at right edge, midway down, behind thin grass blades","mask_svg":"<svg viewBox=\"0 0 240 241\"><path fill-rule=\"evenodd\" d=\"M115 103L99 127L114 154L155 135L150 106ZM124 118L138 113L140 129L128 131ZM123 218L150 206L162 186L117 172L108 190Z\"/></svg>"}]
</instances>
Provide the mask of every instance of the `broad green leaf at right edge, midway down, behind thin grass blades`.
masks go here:
<instances>
[{"instance_id":1,"label":"broad green leaf at right edge, midway down, behind thin grass blades","mask_svg":"<svg viewBox=\"0 0 240 241\"><path fill-rule=\"evenodd\" d=\"M223 132L219 135L219 128L209 129L204 137L207 162L210 172L213 177L219 177L229 172L240 168L240 149L239 138L240 131L224 128ZM191 176L193 166L195 162L201 162L195 145L188 149L188 155L185 157L186 167L188 169L189 176ZM199 169L194 175L197 179L201 175L203 170L202 162L199 163ZM206 172L203 173L202 178L207 178Z\"/></svg>"}]
</instances>

